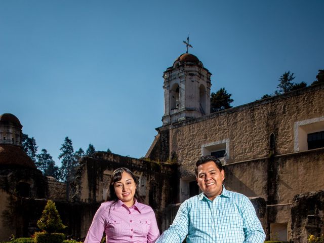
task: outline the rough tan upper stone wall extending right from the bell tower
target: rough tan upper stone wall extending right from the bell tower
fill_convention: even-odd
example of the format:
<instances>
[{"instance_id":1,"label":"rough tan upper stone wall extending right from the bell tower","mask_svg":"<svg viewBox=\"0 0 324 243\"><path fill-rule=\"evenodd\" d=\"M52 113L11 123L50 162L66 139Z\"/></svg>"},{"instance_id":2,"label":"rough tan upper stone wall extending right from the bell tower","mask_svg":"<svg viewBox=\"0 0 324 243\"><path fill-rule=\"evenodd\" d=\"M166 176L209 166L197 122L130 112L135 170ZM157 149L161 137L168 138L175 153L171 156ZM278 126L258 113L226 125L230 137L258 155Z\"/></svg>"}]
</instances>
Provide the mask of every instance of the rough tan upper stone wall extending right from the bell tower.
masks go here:
<instances>
[{"instance_id":1,"label":"rough tan upper stone wall extending right from the bell tower","mask_svg":"<svg viewBox=\"0 0 324 243\"><path fill-rule=\"evenodd\" d=\"M229 141L227 163L294 152L296 121L322 117L324 85L216 112L172 125L171 151L176 151L181 174L193 174L202 146ZM275 149L269 147L270 134Z\"/></svg>"}]
</instances>

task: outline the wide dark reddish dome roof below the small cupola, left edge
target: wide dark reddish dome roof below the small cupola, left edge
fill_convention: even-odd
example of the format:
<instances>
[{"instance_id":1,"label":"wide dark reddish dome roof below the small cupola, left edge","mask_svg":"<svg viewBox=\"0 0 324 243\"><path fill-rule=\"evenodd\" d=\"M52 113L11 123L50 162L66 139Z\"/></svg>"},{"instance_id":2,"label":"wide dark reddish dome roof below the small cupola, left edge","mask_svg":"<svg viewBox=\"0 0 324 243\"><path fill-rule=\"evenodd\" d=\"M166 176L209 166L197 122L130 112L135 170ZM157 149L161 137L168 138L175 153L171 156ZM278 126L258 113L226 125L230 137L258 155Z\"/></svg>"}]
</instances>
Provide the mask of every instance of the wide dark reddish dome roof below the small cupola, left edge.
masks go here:
<instances>
[{"instance_id":1,"label":"wide dark reddish dome roof below the small cupola, left edge","mask_svg":"<svg viewBox=\"0 0 324 243\"><path fill-rule=\"evenodd\" d=\"M36 169L34 162L21 147L10 144L0 144L0 166L2 165Z\"/></svg>"}]
</instances>

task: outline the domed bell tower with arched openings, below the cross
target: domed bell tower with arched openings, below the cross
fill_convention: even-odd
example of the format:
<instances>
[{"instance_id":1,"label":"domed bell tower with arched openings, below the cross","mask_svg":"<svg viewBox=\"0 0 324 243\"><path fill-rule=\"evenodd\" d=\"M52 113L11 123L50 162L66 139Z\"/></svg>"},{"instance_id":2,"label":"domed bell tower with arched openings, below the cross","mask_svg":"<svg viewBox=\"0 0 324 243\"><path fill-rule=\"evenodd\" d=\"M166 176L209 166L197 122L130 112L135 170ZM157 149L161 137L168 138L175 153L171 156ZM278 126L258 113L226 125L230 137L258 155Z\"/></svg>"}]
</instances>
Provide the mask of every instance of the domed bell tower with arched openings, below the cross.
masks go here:
<instances>
[{"instance_id":1,"label":"domed bell tower with arched openings, below the cross","mask_svg":"<svg viewBox=\"0 0 324 243\"><path fill-rule=\"evenodd\" d=\"M210 113L211 73L189 53L164 72L163 125Z\"/></svg>"}]
</instances>

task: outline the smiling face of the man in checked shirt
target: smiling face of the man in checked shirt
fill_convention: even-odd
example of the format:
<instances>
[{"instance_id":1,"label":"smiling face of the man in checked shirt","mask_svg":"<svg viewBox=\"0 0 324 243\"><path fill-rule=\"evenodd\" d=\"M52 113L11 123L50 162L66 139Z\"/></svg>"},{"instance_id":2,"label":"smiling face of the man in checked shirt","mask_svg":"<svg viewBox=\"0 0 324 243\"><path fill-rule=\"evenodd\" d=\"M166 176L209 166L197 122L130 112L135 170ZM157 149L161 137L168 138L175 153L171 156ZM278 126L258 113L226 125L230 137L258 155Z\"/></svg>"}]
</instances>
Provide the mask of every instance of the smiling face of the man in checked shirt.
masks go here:
<instances>
[{"instance_id":1,"label":"smiling face of the man in checked shirt","mask_svg":"<svg viewBox=\"0 0 324 243\"><path fill-rule=\"evenodd\" d=\"M200 190L210 199L222 193L224 170L219 170L214 161L198 166L197 182Z\"/></svg>"}]
</instances>

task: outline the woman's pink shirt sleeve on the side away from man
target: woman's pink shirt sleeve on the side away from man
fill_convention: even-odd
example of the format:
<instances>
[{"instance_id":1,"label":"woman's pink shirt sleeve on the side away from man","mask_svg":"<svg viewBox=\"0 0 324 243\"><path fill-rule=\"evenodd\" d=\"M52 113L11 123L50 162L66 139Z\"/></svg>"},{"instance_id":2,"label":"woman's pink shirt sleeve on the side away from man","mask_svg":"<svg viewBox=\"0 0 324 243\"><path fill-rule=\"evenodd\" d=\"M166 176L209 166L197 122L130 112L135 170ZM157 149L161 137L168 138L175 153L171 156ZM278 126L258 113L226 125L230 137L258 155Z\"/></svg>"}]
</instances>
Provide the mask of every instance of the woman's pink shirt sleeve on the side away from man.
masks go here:
<instances>
[{"instance_id":1,"label":"woman's pink shirt sleeve on the side away from man","mask_svg":"<svg viewBox=\"0 0 324 243\"><path fill-rule=\"evenodd\" d=\"M106 207L101 205L97 210L84 243L100 243L105 231L104 213Z\"/></svg>"}]
</instances>

